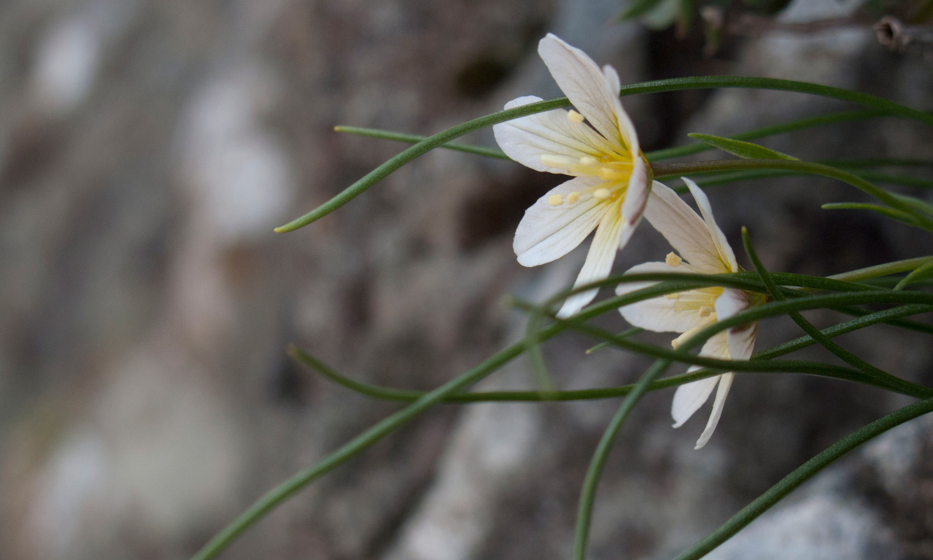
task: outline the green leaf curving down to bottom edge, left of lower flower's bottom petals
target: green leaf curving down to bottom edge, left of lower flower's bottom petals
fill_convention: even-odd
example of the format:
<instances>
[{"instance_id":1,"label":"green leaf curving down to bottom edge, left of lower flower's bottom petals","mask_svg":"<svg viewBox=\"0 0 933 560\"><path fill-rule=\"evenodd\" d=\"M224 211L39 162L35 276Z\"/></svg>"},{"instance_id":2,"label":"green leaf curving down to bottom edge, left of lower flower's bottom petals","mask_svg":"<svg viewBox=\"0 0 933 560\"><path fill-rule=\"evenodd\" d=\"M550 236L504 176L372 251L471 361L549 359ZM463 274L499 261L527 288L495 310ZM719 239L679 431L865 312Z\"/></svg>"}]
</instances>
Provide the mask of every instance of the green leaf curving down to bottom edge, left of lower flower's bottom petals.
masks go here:
<instances>
[{"instance_id":1,"label":"green leaf curving down to bottom edge, left of lower flower's bottom petals","mask_svg":"<svg viewBox=\"0 0 933 560\"><path fill-rule=\"evenodd\" d=\"M596 486L599 485L599 479L603 475L603 468L606 466L606 458L612 451L612 444L616 441L616 435L619 433L622 423L628 418L629 413L634 409L635 404L648 391L648 386L658 375L668 367L671 362L665 359L659 359L654 365L645 371L638 383L635 384L632 391L625 396L616 415L612 417L603 437L596 446L596 452L592 455L590 468L587 469L586 478L583 480L583 489L580 492L579 506L577 510L577 529L574 534L574 560L586 560L587 541L590 539L590 520L592 519L592 503L596 498Z\"/></svg>"}]
</instances>

